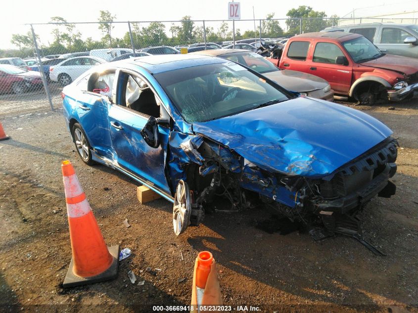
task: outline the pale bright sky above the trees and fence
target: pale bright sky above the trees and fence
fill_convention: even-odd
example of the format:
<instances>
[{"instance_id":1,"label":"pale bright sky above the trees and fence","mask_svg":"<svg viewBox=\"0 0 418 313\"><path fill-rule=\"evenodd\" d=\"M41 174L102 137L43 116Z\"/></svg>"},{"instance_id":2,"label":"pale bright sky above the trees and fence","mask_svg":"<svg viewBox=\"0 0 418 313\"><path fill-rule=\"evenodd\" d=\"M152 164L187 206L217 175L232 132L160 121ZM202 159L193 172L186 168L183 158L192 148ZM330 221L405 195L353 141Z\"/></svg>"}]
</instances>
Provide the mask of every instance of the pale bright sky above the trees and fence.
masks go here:
<instances>
[{"instance_id":1,"label":"pale bright sky above the trees and fence","mask_svg":"<svg viewBox=\"0 0 418 313\"><path fill-rule=\"evenodd\" d=\"M351 12L368 12L375 10L375 0L351 0L351 1L272 1L272 0L240 0L241 19L253 18L253 6L255 18L263 18L269 13L275 13L275 18L285 18L291 8L299 5L308 5L316 11L325 11L330 16L350 16ZM190 15L195 20L222 20L228 18L227 0L99 0L99 1L51 1L51 0L19 0L18 5L14 1L2 3L3 14L0 19L0 48L12 48L10 43L12 34L26 34L30 30L27 23L47 23L52 16L61 16L69 22L94 22L97 21L99 10L109 10L116 15L115 21L167 21L180 20L185 15ZM342 4L344 3L344 4ZM349 3L349 4L348 4ZM399 8L400 11L415 7L418 10L418 1L412 0L384 0L378 2L384 8L388 4ZM370 7L369 9L367 7ZM366 8L366 9L362 9ZM362 13L366 14L366 13ZM356 16L357 17L357 16ZM417 16L418 17L418 16ZM170 28L171 23L166 24ZM236 28L241 32L249 28L244 22L236 22ZM146 26L146 25L144 25ZM218 23L206 23L206 27L213 26L215 30ZM283 24L284 26L284 24ZM51 41L51 26L34 26L35 32L41 37L41 42L47 44ZM97 25L78 26L84 38L92 36L99 39L100 33ZM126 33L126 25L116 25L113 34L123 37Z\"/></svg>"}]
</instances>

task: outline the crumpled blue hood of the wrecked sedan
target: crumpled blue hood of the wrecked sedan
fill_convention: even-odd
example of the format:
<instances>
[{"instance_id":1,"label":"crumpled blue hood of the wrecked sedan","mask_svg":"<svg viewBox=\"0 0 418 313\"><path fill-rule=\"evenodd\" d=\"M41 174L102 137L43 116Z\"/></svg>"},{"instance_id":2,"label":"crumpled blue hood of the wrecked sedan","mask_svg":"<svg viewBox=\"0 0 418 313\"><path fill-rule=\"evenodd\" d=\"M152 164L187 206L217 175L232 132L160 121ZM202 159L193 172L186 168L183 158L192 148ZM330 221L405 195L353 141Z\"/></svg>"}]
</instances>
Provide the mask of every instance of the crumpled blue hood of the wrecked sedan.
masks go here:
<instances>
[{"instance_id":1,"label":"crumpled blue hood of the wrecked sedan","mask_svg":"<svg viewBox=\"0 0 418 313\"><path fill-rule=\"evenodd\" d=\"M270 172L323 177L390 136L370 115L299 97L193 124L193 131Z\"/></svg>"}]
</instances>

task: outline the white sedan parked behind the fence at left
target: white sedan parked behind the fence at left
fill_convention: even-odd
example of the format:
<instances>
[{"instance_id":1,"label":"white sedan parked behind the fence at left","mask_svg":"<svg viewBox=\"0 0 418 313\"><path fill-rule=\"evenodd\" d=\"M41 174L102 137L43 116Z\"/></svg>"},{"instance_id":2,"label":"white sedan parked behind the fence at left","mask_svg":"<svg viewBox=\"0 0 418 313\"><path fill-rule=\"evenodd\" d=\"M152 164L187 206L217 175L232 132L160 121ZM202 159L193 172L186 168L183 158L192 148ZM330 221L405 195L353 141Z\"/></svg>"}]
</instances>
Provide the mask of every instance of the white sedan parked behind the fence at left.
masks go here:
<instances>
[{"instance_id":1,"label":"white sedan parked behind the fence at left","mask_svg":"<svg viewBox=\"0 0 418 313\"><path fill-rule=\"evenodd\" d=\"M106 63L106 60L93 56L77 56L65 59L61 63L49 67L49 79L59 82L61 86L67 86L93 66L102 63Z\"/></svg>"}]
</instances>

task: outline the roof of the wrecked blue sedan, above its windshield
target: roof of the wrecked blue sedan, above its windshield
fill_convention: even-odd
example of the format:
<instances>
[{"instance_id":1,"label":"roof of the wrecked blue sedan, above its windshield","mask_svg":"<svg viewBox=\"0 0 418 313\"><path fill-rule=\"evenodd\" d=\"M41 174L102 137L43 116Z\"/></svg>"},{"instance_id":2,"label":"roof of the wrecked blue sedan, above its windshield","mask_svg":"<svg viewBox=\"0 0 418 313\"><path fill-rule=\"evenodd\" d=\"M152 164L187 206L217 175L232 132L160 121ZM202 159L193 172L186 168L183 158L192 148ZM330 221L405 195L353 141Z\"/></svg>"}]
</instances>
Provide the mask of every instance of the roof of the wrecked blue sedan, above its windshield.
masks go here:
<instances>
[{"instance_id":1,"label":"roof of the wrecked blue sedan, above its windshield","mask_svg":"<svg viewBox=\"0 0 418 313\"><path fill-rule=\"evenodd\" d=\"M122 60L120 62L141 66L151 74L158 74L186 67L225 63L225 59L196 54L160 54L140 56L138 58L132 58L128 61Z\"/></svg>"}]
</instances>

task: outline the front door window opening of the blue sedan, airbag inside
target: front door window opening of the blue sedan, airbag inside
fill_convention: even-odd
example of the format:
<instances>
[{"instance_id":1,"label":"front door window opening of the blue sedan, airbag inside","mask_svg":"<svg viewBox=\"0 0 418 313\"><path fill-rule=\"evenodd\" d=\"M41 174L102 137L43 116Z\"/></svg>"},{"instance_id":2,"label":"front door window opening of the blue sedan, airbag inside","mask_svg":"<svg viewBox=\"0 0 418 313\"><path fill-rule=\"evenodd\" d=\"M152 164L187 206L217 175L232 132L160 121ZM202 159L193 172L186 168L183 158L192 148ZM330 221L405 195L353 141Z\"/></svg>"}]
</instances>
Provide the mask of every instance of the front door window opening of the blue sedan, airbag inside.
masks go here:
<instances>
[{"instance_id":1,"label":"front door window opening of the blue sedan, airbag inside","mask_svg":"<svg viewBox=\"0 0 418 313\"><path fill-rule=\"evenodd\" d=\"M157 104L156 96L145 81L138 76L123 72L119 79L122 92L117 96L117 104L144 115L160 117L160 106Z\"/></svg>"}]
</instances>

